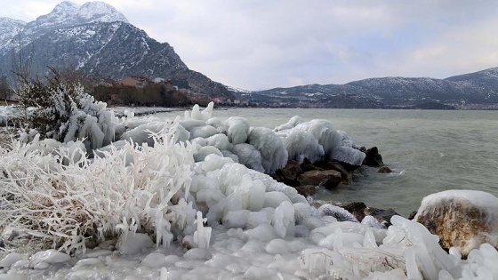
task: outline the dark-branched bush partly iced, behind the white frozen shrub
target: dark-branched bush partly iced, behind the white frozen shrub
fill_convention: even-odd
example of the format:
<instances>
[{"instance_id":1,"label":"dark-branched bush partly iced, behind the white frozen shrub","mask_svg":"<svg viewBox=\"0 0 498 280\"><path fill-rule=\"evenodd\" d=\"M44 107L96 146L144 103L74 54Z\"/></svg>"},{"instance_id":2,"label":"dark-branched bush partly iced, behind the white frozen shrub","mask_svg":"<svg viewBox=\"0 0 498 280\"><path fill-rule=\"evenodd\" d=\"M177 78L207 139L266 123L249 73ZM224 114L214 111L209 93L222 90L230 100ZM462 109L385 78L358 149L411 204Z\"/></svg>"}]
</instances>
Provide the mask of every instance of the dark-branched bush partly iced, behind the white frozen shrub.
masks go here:
<instances>
[{"instance_id":1,"label":"dark-branched bush partly iced, behind the white frozen shrub","mask_svg":"<svg viewBox=\"0 0 498 280\"><path fill-rule=\"evenodd\" d=\"M116 130L114 113L84 92L81 84L53 74L46 82L25 80L21 85L20 108L27 110L24 129L36 130L42 139L84 140L89 150L108 145Z\"/></svg>"}]
</instances>

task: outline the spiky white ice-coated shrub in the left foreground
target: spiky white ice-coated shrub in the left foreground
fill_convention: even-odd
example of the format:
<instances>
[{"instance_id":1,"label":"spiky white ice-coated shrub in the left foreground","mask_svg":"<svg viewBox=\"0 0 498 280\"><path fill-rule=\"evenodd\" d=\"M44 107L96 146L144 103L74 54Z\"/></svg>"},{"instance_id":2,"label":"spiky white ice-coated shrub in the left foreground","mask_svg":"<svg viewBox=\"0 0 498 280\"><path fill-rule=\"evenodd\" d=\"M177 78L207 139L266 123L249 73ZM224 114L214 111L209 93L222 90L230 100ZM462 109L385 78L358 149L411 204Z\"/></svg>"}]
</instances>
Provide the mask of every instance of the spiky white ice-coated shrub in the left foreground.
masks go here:
<instances>
[{"instance_id":1,"label":"spiky white ice-coated shrub in the left foreground","mask_svg":"<svg viewBox=\"0 0 498 280\"><path fill-rule=\"evenodd\" d=\"M85 248L86 238L145 232L157 244L192 235L196 210L187 202L193 147L176 143L174 124L154 135L154 147L125 142L92 162L84 156L61 164L62 153L45 156L14 142L0 149L0 227L28 228L68 252ZM133 164L125 164L125 157ZM57 245L58 246L58 245Z\"/></svg>"}]
</instances>

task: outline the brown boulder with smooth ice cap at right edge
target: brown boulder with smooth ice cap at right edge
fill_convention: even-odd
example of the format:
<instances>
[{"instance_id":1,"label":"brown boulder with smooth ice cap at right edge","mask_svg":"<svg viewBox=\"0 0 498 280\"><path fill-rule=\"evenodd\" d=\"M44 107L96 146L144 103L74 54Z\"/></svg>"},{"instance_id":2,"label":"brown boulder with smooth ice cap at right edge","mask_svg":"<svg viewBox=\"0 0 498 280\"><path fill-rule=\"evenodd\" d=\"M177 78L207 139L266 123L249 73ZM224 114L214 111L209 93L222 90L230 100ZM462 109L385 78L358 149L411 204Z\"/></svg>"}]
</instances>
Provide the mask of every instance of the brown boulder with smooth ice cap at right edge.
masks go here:
<instances>
[{"instance_id":1,"label":"brown boulder with smooth ice cap at right edge","mask_svg":"<svg viewBox=\"0 0 498 280\"><path fill-rule=\"evenodd\" d=\"M482 191L447 190L426 196L415 218L445 249L467 256L480 244L498 248L498 198Z\"/></svg>"}]
</instances>

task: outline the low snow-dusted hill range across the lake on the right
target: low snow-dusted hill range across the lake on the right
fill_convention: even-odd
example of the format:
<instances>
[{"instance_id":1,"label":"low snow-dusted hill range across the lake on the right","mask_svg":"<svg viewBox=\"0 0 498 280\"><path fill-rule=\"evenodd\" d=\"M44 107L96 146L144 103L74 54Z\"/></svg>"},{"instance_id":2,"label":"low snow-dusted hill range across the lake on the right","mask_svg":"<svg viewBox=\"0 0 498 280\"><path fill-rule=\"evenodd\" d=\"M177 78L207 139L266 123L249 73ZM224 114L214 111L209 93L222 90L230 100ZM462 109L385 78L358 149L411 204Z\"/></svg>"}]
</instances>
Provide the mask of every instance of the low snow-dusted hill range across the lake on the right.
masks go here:
<instances>
[{"instance_id":1,"label":"low snow-dusted hill range across the lake on the right","mask_svg":"<svg viewBox=\"0 0 498 280\"><path fill-rule=\"evenodd\" d=\"M498 103L498 68L451 76L389 76L348 84L307 84L260 92L232 92L262 106L318 108L446 108L453 105ZM425 104L419 106L421 104Z\"/></svg>"}]
</instances>

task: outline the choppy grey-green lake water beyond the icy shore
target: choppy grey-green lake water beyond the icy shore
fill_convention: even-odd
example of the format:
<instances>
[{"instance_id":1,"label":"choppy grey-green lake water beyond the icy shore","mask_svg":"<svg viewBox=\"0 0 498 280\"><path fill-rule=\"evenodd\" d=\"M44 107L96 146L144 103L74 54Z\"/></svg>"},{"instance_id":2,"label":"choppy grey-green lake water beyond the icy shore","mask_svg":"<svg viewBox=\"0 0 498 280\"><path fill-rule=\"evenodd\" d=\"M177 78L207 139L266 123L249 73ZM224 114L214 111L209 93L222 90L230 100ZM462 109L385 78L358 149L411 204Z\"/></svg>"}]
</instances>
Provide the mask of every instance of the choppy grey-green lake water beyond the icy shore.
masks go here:
<instances>
[{"instance_id":1,"label":"choppy grey-green lake water beyond the icy shore","mask_svg":"<svg viewBox=\"0 0 498 280\"><path fill-rule=\"evenodd\" d=\"M162 113L158 116L173 116ZM253 126L274 128L292 116L330 120L358 145L377 146L395 172L365 167L352 186L322 190L318 199L363 201L416 210L424 196L446 189L477 189L498 196L498 111L236 108L213 116L243 116Z\"/></svg>"}]
</instances>

